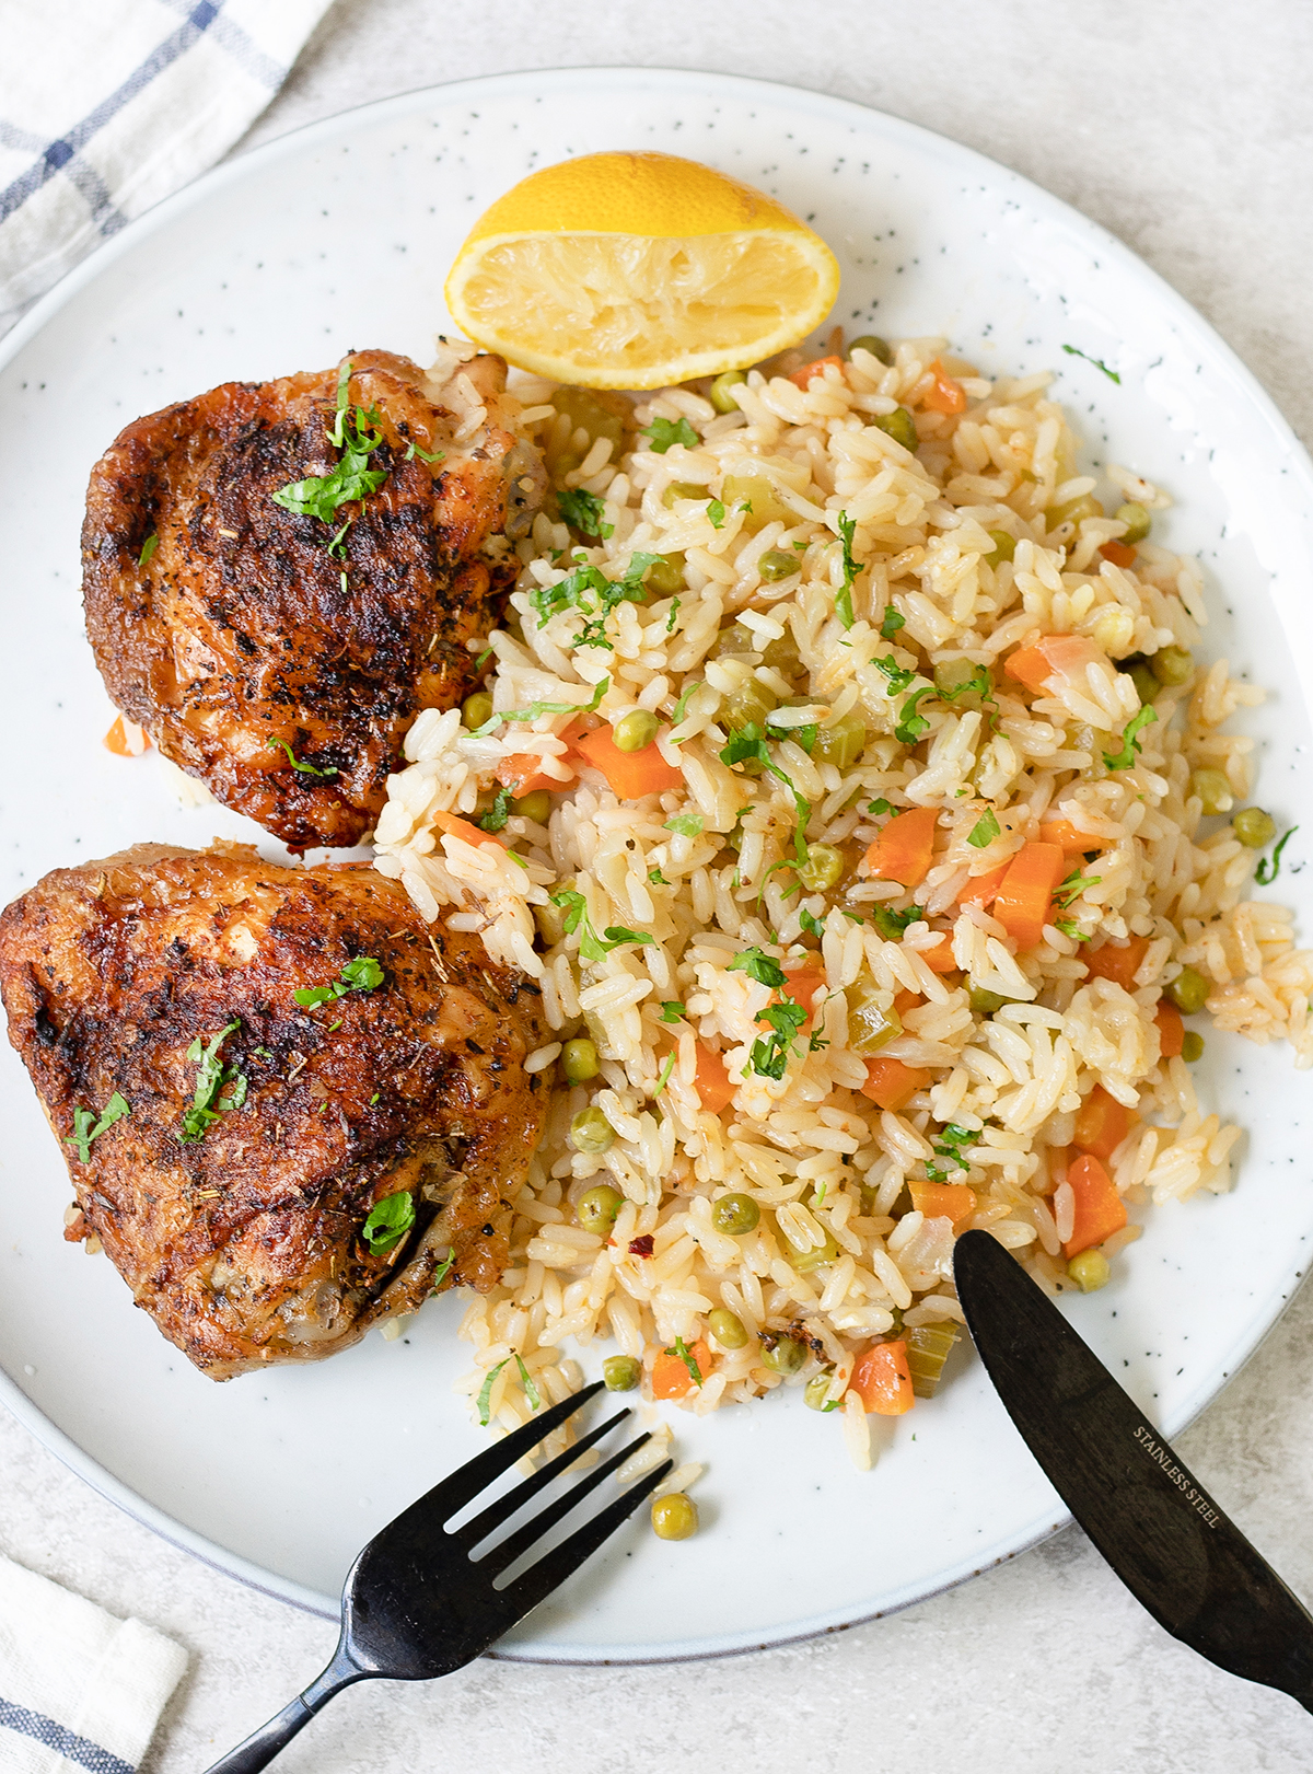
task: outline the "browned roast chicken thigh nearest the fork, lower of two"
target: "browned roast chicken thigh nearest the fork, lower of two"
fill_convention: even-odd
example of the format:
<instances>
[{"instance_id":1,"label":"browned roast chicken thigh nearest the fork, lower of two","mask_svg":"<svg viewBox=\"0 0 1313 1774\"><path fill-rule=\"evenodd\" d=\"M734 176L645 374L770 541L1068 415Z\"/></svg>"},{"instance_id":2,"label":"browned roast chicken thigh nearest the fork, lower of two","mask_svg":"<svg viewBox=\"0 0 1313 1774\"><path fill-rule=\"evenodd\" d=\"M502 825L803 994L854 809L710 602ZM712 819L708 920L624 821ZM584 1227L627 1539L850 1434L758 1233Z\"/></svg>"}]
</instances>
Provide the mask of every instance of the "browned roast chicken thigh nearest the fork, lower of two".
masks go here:
<instances>
[{"instance_id":1,"label":"browned roast chicken thigh nearest the fork, lower of two","mask_svg":"<svg viewBox=\"0 0 1313 1774\"><path fill-rule=\"evenodd\" d=\"M353 958L374 990L314 1008ZM60 1139L82 1219L204 1373L318 1361L444 1286L491 1288L546 1105L523 1071L536 990L477 937L438 938L366 866L277 867L243 844L138 844L55 869L0 915L9 1040ZM213 1043L247 1096L179 1141ZM75 1112L130 1114L78 1157ZM362 1228L405 1190L408 1233Z\"/></svg>"}]
</instances>

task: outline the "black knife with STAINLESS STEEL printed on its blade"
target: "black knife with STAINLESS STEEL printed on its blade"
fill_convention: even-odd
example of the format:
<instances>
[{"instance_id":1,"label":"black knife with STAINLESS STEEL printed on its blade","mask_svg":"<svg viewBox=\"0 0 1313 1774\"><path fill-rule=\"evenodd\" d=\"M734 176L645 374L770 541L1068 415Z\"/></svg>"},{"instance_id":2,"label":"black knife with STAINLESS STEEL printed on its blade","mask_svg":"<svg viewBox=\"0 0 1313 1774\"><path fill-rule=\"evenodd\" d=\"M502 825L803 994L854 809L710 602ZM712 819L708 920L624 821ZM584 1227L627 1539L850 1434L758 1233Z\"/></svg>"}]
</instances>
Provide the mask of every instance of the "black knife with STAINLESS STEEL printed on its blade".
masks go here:
<instances>
[{"instance_id":1,"label":"black knife with STAINLESS STEEL printed on its blade","mask_svg":"<svg viewBox=\"0 0 1313 1774\"><path fill-rule=\"evenodd\" d=\"M953 1272L1008 1416L1136 1600L1219 1669L1313 1712L1313 1614L990 1233L958 1238Z\"/></svg>"}]
</instances>

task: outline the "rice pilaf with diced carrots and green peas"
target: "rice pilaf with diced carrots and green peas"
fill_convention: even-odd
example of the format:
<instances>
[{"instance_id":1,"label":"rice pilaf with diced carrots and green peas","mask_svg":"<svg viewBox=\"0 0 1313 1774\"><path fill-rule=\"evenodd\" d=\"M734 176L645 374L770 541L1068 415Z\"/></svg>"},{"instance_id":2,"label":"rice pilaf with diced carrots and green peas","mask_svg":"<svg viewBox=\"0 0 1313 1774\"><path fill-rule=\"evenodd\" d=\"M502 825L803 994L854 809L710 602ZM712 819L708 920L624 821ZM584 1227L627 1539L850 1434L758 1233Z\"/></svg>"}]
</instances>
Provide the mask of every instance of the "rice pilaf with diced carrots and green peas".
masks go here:
<instances>
[{"instance_id":1,"label":"rice pilaf with diced carrots and green peas","mask_svg":"<svg viewBox=\"0 0 1313 1774\"><path fill-rule=\"evenodd\" d=\"M1313 954L1288 910L1244 898L1256 852L1199 793L1210 772L1219 811L1249 795L1253 740L1223 727L1262 692L1194 665L1198 562L1132 548L1093 495L1169 500L1077 472L1049 374L990 383L940 339L887 355L752 371L727 412L685 387L515 385L573 527L539 513L518 545L488 640L504 718L422 713L376 830L429 921L541 990L555 1040L532 1064L559 1077L571 1038L598 1054L559 1084L511 1268L461 1323L465 1389L504 1428L529 1416L523 1377L564 1396L564 1345L609 1336L648 1391L680 1352L687 1384L658 1394L697 1414L809 1385L866 1465L853 1364L962 1320L956 1231L1073 1284L1068 1171L1097 1089L1132 1217L1230 1187L1240 1130L1199 1107L1164 990L1189 1009L1198 981L1217 1027L1313 1064ZM607 750L635 711L655 742ZM545 823L507 805L527 782L555 789ZM905 882L882 832L914 809L926 859ZM990 883L1054 844L1026 946ZM912 1086L896 1107L889 1077ZM587 1111L605 1150L571 1139ZM577 1206L600 1185L619 1203L596 1231ZM717 1226L726 1194L752 1229Z\"/></svg>"}]
</instances>

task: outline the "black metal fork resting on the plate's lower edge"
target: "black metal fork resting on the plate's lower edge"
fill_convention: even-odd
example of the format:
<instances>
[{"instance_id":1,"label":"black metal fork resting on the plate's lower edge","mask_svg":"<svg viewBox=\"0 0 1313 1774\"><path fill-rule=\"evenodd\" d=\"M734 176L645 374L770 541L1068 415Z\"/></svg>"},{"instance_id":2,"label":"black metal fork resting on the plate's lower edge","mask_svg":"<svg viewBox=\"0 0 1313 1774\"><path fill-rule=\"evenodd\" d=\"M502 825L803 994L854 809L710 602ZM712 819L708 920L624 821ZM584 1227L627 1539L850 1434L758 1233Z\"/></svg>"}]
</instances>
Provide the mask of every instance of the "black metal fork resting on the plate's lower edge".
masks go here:
<instances>
[{"instance_id":1,"label":"black metal fork resting on the plate's lower edge","mask_svg":"<svg viewBox=\"0 0 1313 1774\"><path fill-rule=\"evenodd\" d=\"M476 1455L451 1478L444 1478L419 1503L412 1503L394 1522L374 1535L346 1577L342 1636L328 1668L275 1719L270 1719L245 1744L216 1762L209 1774L256 1774L256 1769L268 1767L296 1731L309 1724L314 1714L351 1682L366 1682L369 1676L387 1676L392 1682L429 1682L433 1676L451 1675L452 1669L460 1669L486 1652L532 1607L546 1600L552 1590L573 1575L584 1559L596 1552L601 1542L660 1485L671 1471L671 1460L665 1460L653 1472L644 1472L637 1485L630 1485L623 1495L577 1527L568 1540L539 1558L506 1588L493 1586L495 1577L509 1570L550 1527L642 1448L649 1440L648 1435L639 1435L628 1448L621 1448L619 1453L603 1460L573 1490L499 1540L479 1559L474 1559L472 1554L488 1535L573 1465L587 1448L614 1430L630 1414L628 1410L619 1410L607 1423L591 1430L532 1478L495 1497L486 1510L481 1510L461 1527L449 1533L445 1524L600 1391L601 1380L586 1385L582 1393L562 1398L559 1405L552 1405L550 1410L515 1430L506 1440Z\"/></svg>"}]
</instances>

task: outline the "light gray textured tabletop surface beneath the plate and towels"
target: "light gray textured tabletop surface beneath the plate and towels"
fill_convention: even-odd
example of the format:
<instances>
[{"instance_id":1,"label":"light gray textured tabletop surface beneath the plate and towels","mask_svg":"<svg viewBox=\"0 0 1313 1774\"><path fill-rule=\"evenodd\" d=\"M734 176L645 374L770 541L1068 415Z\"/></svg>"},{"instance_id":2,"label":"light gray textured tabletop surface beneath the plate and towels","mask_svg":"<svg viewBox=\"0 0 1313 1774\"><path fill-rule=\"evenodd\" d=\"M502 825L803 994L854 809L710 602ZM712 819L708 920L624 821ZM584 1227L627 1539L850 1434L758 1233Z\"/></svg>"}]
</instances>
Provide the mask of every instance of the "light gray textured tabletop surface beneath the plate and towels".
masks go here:
<instances>
[{"instance_id":1,"label":"light gray textured tabletop surface beneath the plate and towels","mask_svg":"<svg viewBox=\"0 0 1313 1774\"><path fill-rule=\"evenodd\" d=\"M431 82L578 62L788 80L992 154L1141 252L1313 438L1311 9L339 0L250 142ZM1297 1087L1306 1091L1306 1079ZM1304 1595L1313 1595L1311 1357L1304 1291L1182 1440L1203 1481ZM193 1774L328 1655L326 1625L154 1540L5 1417L0 1495L0 1550L192 1652L147 1774ZM696 1618L696 1542L688 1607ZM483 1662L436 1687L358 1687L279 1765L287 1774L729 1765L1293 1774L1313 1767L1313 1719L1176 1646L1066 1533L894 1620L788 1650L630 1671Z\"/></svg>"}]
</instances>

